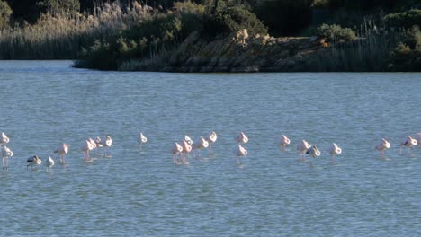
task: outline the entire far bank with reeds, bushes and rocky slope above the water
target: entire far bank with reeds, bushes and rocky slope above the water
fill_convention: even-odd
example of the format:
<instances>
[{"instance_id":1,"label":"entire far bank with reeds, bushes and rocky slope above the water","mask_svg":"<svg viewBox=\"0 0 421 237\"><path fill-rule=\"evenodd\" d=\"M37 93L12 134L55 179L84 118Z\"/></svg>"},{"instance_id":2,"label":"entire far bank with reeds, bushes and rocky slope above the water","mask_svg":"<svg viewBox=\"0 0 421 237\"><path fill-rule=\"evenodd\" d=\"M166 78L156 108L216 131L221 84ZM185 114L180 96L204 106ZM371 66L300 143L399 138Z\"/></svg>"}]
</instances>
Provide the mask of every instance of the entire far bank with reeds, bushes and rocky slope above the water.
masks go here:
<instances>
[{"instance_id":1,"label":"entire far bank with reeds, bushes and rocky slope above the water","mask_svg":"<svg viewBox=\"0 0 421 237\"><path fill-rule=\"evenodd\" d=\"M0 0L0 59L99 70L419 72L414 0Z\"/></svg>"}]
</instances>

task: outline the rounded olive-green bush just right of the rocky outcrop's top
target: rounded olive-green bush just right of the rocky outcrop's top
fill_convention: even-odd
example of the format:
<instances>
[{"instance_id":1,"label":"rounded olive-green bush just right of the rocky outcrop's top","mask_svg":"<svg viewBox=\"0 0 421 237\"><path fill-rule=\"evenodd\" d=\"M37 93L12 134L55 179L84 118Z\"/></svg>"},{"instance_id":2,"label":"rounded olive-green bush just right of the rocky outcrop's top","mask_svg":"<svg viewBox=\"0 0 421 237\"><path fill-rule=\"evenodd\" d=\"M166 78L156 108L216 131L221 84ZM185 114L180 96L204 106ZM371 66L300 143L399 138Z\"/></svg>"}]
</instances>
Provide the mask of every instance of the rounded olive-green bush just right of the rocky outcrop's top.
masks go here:
<instances>
[{"instance_id":1,"label":"rounded olive-green bush just right of the rocky outcrop's top","mask_svg":"<svg viewBox=\"0 0 421 237\"><path fill-rule=\"evenodd\" d=\"M318 27L318 37L326 38L329 41L344 40L345 42L357 39L355 32L349 28L342 28L340 25L322 24Z\"/></svg>"}]
</instances>

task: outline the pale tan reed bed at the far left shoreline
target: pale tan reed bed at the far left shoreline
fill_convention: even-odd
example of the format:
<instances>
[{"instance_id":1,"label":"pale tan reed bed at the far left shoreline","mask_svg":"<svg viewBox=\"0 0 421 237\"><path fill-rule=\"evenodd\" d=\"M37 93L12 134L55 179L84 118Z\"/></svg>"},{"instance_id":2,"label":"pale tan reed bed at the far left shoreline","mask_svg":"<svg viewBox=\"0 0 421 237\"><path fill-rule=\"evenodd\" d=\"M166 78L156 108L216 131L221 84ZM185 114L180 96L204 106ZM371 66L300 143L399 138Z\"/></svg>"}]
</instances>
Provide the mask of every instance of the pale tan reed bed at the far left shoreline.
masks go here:
<instances>
[{"instance_id":1,"label":"pale tan reed bed at the far left shoreline","mask_svg":"<svg viewBox=\"0 0 421 237\"><path fill-rule=\"evenodd\" d=\"M133 2L100 4L88 15L46 13L33 25L1 30L0 59L75 59L81 48L145 21L152 11Z\"/></svg>"}]
</instances>

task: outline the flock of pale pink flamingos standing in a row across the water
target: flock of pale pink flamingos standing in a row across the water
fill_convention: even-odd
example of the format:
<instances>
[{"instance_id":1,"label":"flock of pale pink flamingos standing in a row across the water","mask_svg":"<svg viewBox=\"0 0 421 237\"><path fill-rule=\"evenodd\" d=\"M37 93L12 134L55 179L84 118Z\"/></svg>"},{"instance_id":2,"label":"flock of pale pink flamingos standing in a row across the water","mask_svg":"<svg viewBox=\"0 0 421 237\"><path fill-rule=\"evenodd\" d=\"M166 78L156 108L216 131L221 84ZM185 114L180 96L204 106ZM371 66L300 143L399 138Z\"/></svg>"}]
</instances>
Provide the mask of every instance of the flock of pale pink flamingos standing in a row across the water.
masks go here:
<instances>
[{"instance_id":1,"label":"flock of pale pink flamingos standing in a row across the water","mask_svg":"<svg viewBox=\"0 0 421 237\"><path fill-rule=\"evenodd\" d=\"M173 162L175 164L187 164L186 157L188 154L192 153L193 157L200 158L201 157L201 150L205 148L209 148L210 154L213 154L212 151L212 144L217 141L217 134L212 131L209 136L203 137L200 136L200 138L193 142L192 138L189 136L184 136L184 139L181 143L175 142L174 147L172 149L173 154ZM2 136L0 137L0 149L1 154L3 157L3 170L7 171L9 168L9 158L13 156L13 151L6 146L10 141L9 137L6 136L4 133L2 133ZM236 157L237 157L237 164L241 164L240 157L246 156L248 153L244 145L248 143L248 137L244 132L240 132L240 134L236 138L237 141L237 147L236 147ZM143 135L143 133L140 133L138 142L141 145L146 144L148 142L148 138ZM281 147L282 151L285 151L285 147L287 145L291 144L291 140L285 136L281 136L281 140L279 142L279 145ZM84 154L85 162L93 162L93 159L91 158L91 155L89 154L90 151L94 150L94 154L97 155L98 148L103 147L103 156L107 157L110 156L107 154L107 150L109 147L112 146L112 137L111 136L105 136L103 139L101 139L99 136L97 136L95 139L88 138L85 140L83 145L81 146L80 151ZM407 147L408 149L408 155L410 155L410 148L413 146L418 146L421 148L421 133L417 134L417 139L413 138L412 136L407 136L407 138L400 144L400 154L402 153L402 148ZM381 138L381 143L379 145L375 145L374 149L380 152L380 158L385 159L384 154L387 149L390 148L390 142L387 141L385 138ZM194 153L194 150L196 150L196 153ZM316 145L310 145L306 140L302 140L297 145L297 151L300 154L300 160L305 162L306 157L305 155L309 155L309 163L311 163L311 158L316 158L321 155L320 150L318 150L318 147ZM342 148L333 143L327 150L328 154L332 157L332 162L336 161L336 156L339 154L342 154ZM68 145L62 144L59 145L56 150L54 150L54 153L59 154L60 163L65 164L65 154L68 153ZM42 163L42 160L38 155L32 155L27 159L27 167L31 166L31 169L33 169L34 166L38 166ZM45 159L44 161L47 171L50 171L51 167L54 165L54 159L50 156Z\"/></svg>"}]
</instances>

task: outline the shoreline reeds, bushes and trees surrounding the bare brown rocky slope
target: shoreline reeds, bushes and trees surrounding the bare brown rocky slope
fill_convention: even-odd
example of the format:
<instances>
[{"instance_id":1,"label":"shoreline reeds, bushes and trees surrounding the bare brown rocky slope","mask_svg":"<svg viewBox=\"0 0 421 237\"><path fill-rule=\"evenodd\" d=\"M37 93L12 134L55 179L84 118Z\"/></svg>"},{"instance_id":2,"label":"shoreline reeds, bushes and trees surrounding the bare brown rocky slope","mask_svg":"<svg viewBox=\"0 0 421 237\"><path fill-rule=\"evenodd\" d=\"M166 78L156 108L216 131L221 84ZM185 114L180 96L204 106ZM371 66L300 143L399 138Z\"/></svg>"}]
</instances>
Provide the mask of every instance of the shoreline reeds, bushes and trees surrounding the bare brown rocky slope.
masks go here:
<instances>
[{"instance_id":1,"label":"shoreline reeds, bushes and trees surrounding the bare brown rocky slope","mask_svg":"<svg viewBox=\"0 0 421 237\"><path fill-rule=\"evenodd\" d=\"M318 36L326 50L316 71L419 71L420 7L417 0L0 0L0 59L159 67L193 31L211 41L246 29Z\"/></svg>"}]
</instances>

